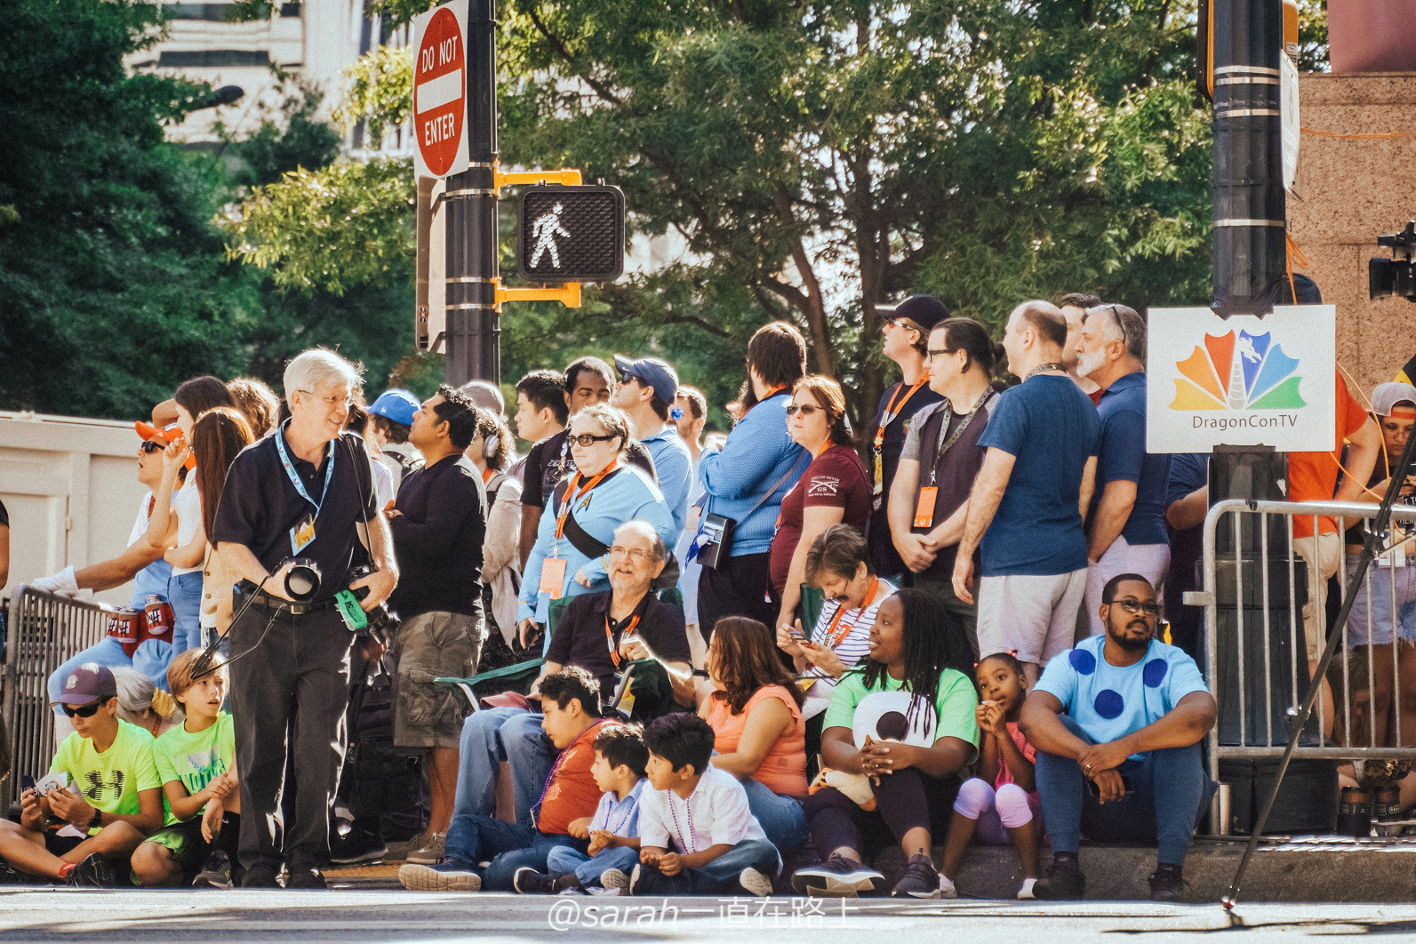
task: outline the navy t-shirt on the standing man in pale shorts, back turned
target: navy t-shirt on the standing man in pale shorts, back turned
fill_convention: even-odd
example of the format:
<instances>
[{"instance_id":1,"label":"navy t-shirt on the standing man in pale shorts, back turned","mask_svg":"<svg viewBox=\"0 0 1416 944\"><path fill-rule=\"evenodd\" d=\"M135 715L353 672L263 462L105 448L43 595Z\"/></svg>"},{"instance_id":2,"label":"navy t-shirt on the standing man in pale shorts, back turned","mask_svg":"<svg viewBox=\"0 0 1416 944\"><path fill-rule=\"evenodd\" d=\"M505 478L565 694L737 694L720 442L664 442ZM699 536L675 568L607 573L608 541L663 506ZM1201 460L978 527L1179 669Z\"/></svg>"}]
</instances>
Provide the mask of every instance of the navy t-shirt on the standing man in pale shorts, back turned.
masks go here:
<instances>
[{"instance_id":1,"label":"navy t-shirt on the standing man in pale shorts, back turned","mask_svg":"<svg viewBox=\"0 0 1416 944\"><path fill-rule=\"evenodd\" d=\"M1015 459L980 545L983 576L1052 576L1086 569L1082 473L1097 453L1102 422L1068 376L1042 374L998 395L980 449Z\"/></svg>"}]
</instances>

